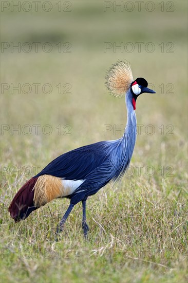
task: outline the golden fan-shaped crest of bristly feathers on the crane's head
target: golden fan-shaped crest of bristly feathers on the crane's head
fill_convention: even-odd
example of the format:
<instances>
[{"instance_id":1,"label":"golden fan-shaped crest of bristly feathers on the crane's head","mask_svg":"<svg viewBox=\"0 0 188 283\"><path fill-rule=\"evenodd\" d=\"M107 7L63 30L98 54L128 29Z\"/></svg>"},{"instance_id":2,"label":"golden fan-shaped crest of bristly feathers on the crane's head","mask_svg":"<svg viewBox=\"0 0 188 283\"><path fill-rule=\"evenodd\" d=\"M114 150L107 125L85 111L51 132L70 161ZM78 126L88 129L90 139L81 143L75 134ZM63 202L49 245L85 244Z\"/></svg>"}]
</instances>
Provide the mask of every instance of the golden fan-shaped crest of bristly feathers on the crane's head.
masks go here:
<instances>
[{"instance_id":1,"label":"golden fan-shaped crest of bristly feathers on the crane's head","mask_svg":"<svg viewBox=\"0 0 188 283\"><path fill-rule=\"evenodd\" d=\"M106 87L115 97L123 96L133 82L133 74L128 61L118 60L106 75Z\"/></svg>"}]
</instances>

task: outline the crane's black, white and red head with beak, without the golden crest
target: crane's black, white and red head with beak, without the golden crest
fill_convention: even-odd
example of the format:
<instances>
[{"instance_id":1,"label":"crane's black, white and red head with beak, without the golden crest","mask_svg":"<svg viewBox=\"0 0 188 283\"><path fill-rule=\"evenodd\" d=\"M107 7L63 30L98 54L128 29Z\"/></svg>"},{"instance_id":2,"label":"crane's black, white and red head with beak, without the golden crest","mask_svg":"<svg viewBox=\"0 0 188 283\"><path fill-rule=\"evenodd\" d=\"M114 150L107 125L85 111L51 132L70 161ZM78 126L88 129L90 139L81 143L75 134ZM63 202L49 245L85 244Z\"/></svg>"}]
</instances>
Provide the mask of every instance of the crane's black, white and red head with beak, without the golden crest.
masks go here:
<instances>
[{"instance_id":1,"label":"crane's black, white and red head with beak, without the golden crest","mask_svg":"<svg viewBox=\"0 0 188 283\"><path fill-rule=\"evenodd\" d=\"M136 109L136 100L138 96L142 93L156 93L155 91L148 89L148 83L144 78L137 78L130 85L131 94L133 94L133 108Z\"/></svg>"}]
</instances>

